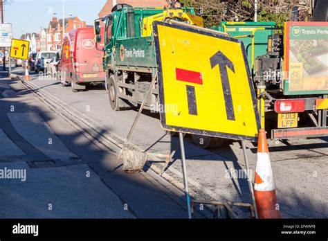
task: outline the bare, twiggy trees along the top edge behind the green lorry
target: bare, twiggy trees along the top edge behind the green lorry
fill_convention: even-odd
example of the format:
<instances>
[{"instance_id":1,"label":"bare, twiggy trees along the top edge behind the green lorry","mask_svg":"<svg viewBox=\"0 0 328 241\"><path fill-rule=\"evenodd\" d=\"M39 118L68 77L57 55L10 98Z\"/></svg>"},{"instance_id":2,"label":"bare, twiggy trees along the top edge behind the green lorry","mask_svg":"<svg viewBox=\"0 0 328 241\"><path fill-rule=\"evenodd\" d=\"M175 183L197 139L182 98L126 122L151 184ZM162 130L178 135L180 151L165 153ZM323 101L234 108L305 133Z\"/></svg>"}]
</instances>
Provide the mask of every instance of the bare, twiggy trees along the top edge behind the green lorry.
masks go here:
<instances>
[{"instance_id":1,"label":"bare, twiggy trees along the top edge behind the green lorry","mask_svg":"<svg viewBox=\"0 0 328 241\"><path fill-rule=\"evenodd\" d=\"M206 27L217 26L221 21L253 21L254 0L218 1L184 0L185 6L192 6L205 19ZM298 15L298 21L311 17L311 1L299 4L298 0L259 0L257 21L275 21L282 26Z\"/></svg>"}]
</instances>

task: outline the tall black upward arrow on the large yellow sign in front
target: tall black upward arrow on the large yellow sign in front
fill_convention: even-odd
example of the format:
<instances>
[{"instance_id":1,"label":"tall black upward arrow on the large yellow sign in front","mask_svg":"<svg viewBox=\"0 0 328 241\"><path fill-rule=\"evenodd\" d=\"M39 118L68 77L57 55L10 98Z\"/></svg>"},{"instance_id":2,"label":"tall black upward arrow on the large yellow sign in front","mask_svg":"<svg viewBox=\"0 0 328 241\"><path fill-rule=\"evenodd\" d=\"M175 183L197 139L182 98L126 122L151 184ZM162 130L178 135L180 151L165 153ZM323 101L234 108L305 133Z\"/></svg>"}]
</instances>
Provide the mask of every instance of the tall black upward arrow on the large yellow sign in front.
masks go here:
<instances>
[{"instance_id":1,"label":"tall black upward arrow on the large yellow sign in front","mask_svg":"<svg viewBox=\"0 0 328 241\"><path fill-rule=\"evenodd\" d=\"M210 58L210 64L212 69L219 65L222 87L224 89L224 101L226 102L226 112L228 120L235 119L235 111L233 110L233 98L231 98L231 89L228 80L228 71L227 67L235 73L235 68L233 62L231 62L226 55L218 51Z\"/></svg>"}]
</instances>

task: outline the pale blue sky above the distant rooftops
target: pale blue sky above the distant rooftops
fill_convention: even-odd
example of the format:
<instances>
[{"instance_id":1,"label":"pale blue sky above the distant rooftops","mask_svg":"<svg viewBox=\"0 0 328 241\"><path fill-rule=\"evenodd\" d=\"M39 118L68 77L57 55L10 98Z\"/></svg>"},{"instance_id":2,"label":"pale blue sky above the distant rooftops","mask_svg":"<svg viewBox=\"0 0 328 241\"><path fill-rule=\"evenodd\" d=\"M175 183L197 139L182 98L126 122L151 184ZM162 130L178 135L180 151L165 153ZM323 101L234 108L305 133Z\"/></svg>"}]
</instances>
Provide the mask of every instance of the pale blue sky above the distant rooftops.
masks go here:
<instances>
[{"instance_id":1,"label":"pale blue sky above the distant rooftops","mask_svg":"<svg viewBox=\"0 0 328 241\"><path fill-rule=\"evenodd\" d=\"M64 0L65 17L78 16L86 24L93 25L107 0ZM62 18L63 0L8 0L3 6L4 23L12 24L14 37L24 33L39 33L52 17ZM57 13L57 15L53 15Z\"/></svg>"}]
</instances>

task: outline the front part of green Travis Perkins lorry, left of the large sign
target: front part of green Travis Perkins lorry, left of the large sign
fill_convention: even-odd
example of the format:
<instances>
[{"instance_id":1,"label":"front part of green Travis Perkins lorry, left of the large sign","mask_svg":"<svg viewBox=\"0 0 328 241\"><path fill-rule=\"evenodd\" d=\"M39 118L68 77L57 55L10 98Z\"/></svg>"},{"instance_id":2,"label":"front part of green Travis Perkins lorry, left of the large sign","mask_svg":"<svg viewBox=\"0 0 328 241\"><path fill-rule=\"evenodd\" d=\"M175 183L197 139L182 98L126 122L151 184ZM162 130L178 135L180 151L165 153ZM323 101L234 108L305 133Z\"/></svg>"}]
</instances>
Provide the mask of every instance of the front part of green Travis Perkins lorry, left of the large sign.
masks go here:
<instances>
[{"instance_id":1,"label":"front part of green Travis Perkins lorry, left of the large sign","mask_svg":"<svg viewBox=\"0 0 328 241\"><path fill-rule=\"evenodd\" d=\"M132 8L118 4L111 15L95 21L95 42L104 37L105 87L113 110L141 104L152 78L156 78L152 22L175 19L203 26L203 19L194 14L193 8ZM105 25L104 36L100 36L100 21ZM158 111L157 83L145 109Z\"/></svg>"}]
</instances>

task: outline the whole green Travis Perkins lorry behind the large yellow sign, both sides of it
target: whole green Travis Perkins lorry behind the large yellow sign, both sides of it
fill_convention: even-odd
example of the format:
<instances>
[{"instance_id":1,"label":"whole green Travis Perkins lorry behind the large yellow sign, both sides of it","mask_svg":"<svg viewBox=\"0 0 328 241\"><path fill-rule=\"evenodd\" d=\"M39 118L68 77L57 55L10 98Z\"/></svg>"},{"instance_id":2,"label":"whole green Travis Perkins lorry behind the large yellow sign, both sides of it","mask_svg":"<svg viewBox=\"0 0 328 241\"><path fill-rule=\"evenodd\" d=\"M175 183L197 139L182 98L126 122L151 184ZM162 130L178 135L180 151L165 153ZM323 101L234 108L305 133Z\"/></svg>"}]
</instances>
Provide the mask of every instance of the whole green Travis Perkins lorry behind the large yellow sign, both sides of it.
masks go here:
<instances>
[{"instance_id":1,"label":"whole green Travis Perkins lorry behind the large yellow sign, both sides of it","mask_svg":"<svg viewBox=\"0 0 328 241\"><path fill-rule=\"evenodd\" d=\"M174 19L203 27L203 19L194 14L193 8L132 8L119 4L110 15L96 19L96 42L104 37L102 63L113 110L140 105L152 79L157 76L153 21ZM98 31L100 21L105 23L104 36L100 36ZM322 30L322 35L317 36L319 39L307 39L302 33L290 37L293 31L304 31L302 26L304 30ZM321 57L323 61L319 57L320 71L311 72L308 62L313 62L313 53L301 53L293 48L299 43L307 45L307 40L311 40L310 48L319 45L321 53L325 55L328 53L327 28L327 22L286 23L284 33L275 28L275 23L225 22L217 28L244 42L257 91L262 128L266 128L271 139L328 136L328 71L325 56ZM293 51L290 54L291 48ZM290 55L293 55L293 59ZM297 67L300 68L298 71L289 69L295 70ZM303 75L307 78L302 78ZM316 82L317 78L320 78L319 82ZM311 86L311 81L316 82L316 87ZM157 82L145 103L145 109L161 111ZM224 141L210 136L193 135L192 138L202 148L210 148Z\"/></svg>"}]
</instances>

